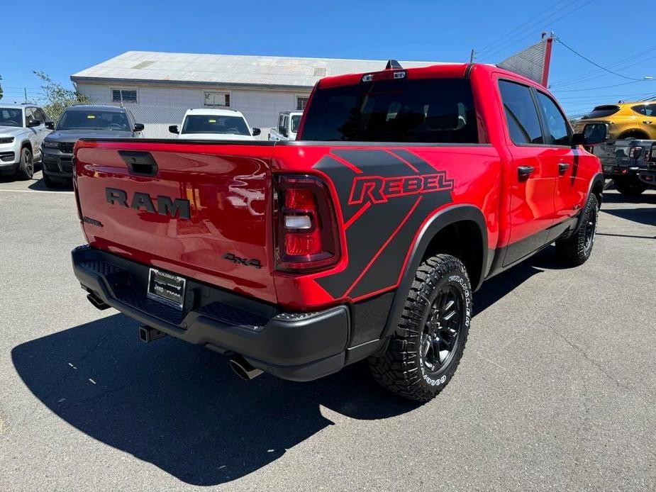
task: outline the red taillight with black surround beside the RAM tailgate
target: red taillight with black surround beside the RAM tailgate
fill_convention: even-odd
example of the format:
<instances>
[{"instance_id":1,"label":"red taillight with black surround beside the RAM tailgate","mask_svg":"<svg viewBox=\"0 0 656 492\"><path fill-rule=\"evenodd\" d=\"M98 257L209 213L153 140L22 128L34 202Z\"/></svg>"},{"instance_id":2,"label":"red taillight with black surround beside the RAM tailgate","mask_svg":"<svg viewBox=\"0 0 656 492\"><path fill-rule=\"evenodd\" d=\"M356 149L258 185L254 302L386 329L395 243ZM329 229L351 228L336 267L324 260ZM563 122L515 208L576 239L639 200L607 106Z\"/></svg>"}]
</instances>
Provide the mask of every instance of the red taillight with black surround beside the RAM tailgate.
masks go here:
<instances>
[{"instance_id":1,"label":"red taillight with black surround beside the RAM tailgate","mask_svg":"<svg viewBox=\"0 0 656 492\"><path fill-rule=\"evenodd\" d=\"M277 269L306 272L339 261L335 212L323 181L311 176L279 176L275 217Z\"/></svg>"}]
</instances>

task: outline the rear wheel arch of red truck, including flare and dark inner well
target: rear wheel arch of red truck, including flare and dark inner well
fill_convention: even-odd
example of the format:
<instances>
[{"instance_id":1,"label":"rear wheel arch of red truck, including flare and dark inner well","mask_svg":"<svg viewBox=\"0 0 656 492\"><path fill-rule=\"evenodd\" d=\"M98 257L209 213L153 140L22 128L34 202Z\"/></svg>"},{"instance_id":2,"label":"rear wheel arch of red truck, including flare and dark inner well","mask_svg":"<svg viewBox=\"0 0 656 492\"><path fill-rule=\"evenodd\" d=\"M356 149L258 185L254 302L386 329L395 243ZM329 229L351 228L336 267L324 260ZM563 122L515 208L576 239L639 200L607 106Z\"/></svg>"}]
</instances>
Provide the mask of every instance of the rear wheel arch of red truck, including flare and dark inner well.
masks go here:
<instances>
[{"instance_id":1,"label":"rear wheel arch of red truck, including flare and dark inner well","mask_svg":"<svg viewBox=\"0 0 656 492\"><path fill-rule=\"evenodd\" d=\"M450 234L453 233L455 237L451 238ZM467 248L462 247L463 241L467 243ZM427 257L438 253L447 253L460 259L467 267L473 290L479 288L489 259L487 225L479 208L473 205L452 206L436 213L423 225L394 294L382 338L392 335L396 330L419 265Z\"/></svg>"}]
</instances>

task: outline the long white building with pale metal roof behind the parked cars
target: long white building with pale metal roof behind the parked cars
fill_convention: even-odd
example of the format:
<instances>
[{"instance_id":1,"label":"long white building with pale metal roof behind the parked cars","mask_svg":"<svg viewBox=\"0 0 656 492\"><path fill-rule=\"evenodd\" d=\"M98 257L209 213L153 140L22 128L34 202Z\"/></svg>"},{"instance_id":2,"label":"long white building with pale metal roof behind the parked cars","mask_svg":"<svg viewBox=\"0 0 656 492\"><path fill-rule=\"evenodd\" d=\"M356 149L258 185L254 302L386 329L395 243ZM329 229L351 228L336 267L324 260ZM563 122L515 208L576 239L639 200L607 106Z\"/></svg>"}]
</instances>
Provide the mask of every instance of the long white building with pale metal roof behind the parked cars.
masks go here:
<instances>
[{"instance_id":1,"label":"long white building with pale metal roof behind the parked cars","mask_svg":"<svg viewBox=\"0 0 656 492\"><path fill-rule=\"evenodd\" d=\"M168 125L179 124L184 111L215 106L241 111L267 139L278 113L303 109L318 79L379 71L386 64L387 60L128 51L73 74L71 80L94 103L129 108L146 125L146 137L170 137Z\"/></svg>"}]
</instances>

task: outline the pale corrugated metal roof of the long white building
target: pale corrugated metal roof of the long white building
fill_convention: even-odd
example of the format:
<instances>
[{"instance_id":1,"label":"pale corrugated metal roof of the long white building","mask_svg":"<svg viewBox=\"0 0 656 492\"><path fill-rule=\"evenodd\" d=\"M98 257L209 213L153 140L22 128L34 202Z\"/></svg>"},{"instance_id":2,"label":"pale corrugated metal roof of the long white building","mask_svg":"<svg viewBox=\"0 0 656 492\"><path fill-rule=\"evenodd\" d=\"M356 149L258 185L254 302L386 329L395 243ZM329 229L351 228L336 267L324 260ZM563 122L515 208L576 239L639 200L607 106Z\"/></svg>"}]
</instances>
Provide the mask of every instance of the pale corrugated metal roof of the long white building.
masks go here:
<instances>
[{"instance_id":1,"label":"pale corrugated metal roof of the long white building","mask_svg":"<svg viewBox=\"0 0 656 492\"><path fill-rule=\"evenodd\" d=\"M333 75L377 72L387 60L339 60L243 55L194 55L154 51L128 51L73 74L73 82L127 80L254 86L311 87ZM438 62L401 62L404 68Z\"/></svg>"}]
</instances>

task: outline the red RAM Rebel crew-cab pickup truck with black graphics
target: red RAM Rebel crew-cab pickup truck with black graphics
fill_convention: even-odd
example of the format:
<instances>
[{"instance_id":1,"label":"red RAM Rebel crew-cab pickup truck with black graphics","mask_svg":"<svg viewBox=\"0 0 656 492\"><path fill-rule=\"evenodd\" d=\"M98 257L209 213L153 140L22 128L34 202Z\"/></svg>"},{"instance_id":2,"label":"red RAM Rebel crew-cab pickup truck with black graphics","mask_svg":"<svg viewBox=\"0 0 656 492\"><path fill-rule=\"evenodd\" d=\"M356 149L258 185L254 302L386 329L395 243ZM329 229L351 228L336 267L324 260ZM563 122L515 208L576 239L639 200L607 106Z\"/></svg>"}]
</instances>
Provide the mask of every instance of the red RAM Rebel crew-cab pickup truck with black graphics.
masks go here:
<instances>
[{"instance_id":1,"label":"red RAM Rebel crew-cab pickup truck with black graphics","mask_svg":"<svg viewBox=\"0 0 656 492\"><path fill-rule=\"evenodd\" d=\"M74 188L98 308L308 381L369 359L428 401L472 291L555 242L589 257L603 175L555 99L488 65L321 79L289 142L83 139ZM604 128L605 130L605 128Z\"/></svg>"}]
</instances>

